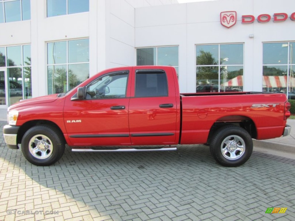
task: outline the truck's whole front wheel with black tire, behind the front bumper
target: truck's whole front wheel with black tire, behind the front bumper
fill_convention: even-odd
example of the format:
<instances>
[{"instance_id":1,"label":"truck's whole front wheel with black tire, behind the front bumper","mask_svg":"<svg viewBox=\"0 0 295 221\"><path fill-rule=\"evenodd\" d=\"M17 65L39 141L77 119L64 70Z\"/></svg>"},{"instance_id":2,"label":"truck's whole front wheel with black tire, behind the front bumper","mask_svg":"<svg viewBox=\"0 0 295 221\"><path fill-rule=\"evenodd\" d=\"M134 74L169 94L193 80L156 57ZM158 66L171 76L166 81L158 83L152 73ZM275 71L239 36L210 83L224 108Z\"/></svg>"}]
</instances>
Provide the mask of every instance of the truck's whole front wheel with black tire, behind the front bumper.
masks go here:
<instances>
[{"instance_id":1,"label":"truck's whole front wheel with black tire, behind the front bumper","mask_svg":"<svg viewBox=\"0 0 295 221\"><path fill-rule=\"evenodd\" d=\"M22 138L22 153L32 164L50 166L65 151L65 139L52 126L40 125L30 128Z\"/></svg>"}]
</instances>

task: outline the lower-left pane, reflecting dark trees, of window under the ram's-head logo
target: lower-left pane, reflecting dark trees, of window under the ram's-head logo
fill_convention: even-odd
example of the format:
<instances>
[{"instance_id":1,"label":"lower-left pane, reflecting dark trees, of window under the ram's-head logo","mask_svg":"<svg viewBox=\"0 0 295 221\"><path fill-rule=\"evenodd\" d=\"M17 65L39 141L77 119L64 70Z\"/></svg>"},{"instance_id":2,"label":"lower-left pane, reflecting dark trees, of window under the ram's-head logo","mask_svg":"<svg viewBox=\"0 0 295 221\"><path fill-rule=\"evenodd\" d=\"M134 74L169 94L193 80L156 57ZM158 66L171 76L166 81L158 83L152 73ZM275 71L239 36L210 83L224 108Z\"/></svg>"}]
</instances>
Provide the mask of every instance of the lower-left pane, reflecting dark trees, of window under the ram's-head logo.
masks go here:
<instances>
[{"instance_id":1,"label":"lower-left pane, reflecting dark trees, of window under the ram's-head logo","mask_svg":"<svg viewBox=\"0 0 295 221\"><path fill-rule=\"evenodd\" d=\"M218 67L197 67L196 92L218 92Z\"/></svg>"}]
</instances>

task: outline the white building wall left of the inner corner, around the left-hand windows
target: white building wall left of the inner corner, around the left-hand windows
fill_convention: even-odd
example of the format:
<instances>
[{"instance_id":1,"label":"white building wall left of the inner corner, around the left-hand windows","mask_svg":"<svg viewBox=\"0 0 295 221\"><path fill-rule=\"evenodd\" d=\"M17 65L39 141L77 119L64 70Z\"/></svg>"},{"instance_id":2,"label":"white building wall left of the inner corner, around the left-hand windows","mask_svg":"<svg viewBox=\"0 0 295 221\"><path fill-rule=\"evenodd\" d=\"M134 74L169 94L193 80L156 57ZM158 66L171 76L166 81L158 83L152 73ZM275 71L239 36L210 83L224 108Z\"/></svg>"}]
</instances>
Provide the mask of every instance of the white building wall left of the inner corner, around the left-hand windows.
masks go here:
<instances>
[{"instance_id":1,"label":"white building wall left of the inner corner, around the left-hand windows","mask_svg":"<svg viewBox=\"0 0 295 221\"><path fill-rule=\"evenodd\" d=\"M47 42L89 38L90 76L134 65L135 8L176 0L89 0L89 12L47 18L46 0L31 0L31 20L1 23L1 46L31 44L32 96L47 95Z\"/></svg>"}]
</instances>

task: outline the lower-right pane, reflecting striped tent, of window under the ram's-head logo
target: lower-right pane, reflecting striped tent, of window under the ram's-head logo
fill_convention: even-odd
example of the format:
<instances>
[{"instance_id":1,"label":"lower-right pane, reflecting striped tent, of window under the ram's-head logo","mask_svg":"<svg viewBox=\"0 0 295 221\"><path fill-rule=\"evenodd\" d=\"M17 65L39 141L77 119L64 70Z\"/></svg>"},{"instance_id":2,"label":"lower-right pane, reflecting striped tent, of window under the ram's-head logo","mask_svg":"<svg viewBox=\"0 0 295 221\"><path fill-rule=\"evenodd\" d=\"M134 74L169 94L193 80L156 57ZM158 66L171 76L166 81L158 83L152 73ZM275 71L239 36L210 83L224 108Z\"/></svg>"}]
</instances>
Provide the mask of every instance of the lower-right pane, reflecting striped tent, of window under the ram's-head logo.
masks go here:
<instances>
[{"instance_id":1,"label":"lower-right pane, reflecting striped tent, of window under the ram's-head logo","mask_svg":"<svg viewBox=\"0 0 295 221\"><path fill-rule=\"evenodd\" d=\"M220 66L220 92L243 91L243 66Z\"/></svg>"}]
</instances>

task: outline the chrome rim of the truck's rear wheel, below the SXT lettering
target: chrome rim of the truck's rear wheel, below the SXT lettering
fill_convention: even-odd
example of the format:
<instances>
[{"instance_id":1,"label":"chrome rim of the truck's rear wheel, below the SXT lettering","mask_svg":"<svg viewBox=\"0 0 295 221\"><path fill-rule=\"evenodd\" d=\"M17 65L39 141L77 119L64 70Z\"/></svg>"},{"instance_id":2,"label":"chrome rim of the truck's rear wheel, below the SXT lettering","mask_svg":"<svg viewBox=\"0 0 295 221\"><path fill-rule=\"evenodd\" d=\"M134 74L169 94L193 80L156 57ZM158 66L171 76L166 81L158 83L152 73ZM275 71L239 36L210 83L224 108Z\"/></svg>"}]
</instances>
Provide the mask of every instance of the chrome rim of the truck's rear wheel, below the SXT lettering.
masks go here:
<instances>
[{"instance_id":1,"label":"chrome rim of the truck's rear wheel, below the SXT lettering","mask_svg":"<svg viewBox=\"0 0 295 221\"><path fill-rule=\"evenodd\" d=\"M237 135L227 136L221 143L221 153L229 160L237 160L245 153L245 141Z\"/></svg>"}]
</instances>

